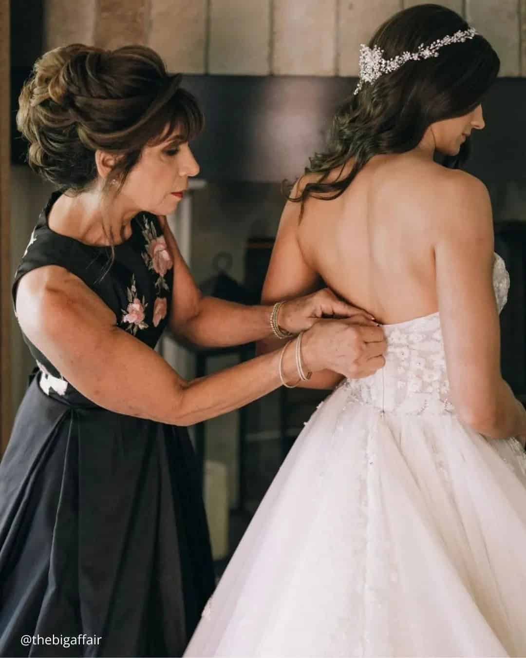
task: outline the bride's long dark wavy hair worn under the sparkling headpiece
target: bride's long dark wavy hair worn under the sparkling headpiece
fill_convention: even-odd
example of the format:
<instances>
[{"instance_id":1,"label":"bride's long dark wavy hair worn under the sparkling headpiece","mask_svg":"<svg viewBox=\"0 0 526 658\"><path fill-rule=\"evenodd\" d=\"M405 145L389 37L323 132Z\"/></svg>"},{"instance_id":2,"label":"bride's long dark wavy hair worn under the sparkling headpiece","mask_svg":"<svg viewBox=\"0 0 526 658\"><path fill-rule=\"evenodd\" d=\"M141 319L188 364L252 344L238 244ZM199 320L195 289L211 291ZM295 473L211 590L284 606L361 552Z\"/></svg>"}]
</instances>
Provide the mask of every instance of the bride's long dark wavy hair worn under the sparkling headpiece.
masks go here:
<instances>
[{"instance_id":1,"label":"bride's long dark wavy hair worn under the sparkling headpiece","mask_svg":"<svg viewBox=\"0 0 526 658\"><path fill-rule=\"evenodd\" d=\"M379 46L383 57L391 59L404 51L416 51L421 43L427 45L467 29L469 24L450 9L418 5L389 18L369 46ZM443 47L439 57L409 61L372 84L364 83L335 114L327 149L310 158L310 166L305 168L306 174L316 172L320 178L308 182L298 196L289 199L300 201L302 210L309 196L336 199L374 155L411 151L431 124L473 111L499 68L494 49L476 35L464 43ZM458 166L465 161L468 149L466 140L459 155L444 164ZM354 159L352 168L343 175L350 159ZM336 180L327 180L334 170L339 173Z\"/></svg>"}]
</instances>

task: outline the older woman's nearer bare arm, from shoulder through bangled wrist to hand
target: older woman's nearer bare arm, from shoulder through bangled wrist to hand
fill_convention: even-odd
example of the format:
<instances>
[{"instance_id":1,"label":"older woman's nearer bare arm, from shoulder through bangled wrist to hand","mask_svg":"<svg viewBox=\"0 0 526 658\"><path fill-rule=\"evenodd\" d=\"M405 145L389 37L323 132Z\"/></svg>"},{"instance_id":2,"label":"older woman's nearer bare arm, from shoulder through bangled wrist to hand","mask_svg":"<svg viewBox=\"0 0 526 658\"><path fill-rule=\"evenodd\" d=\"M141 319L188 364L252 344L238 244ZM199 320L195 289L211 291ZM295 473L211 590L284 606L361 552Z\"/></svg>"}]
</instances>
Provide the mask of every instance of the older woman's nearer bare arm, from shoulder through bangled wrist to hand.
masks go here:
<instances>
[{"instance_id":1,"label":"older woman's nearer bare arm, from shoulder through bangled wrist to hand","mask_svg":"<svg viewBox=\"0 0 526 658\"><path fill-rule=\"evenodd\" d=\"M24 334L60 374L85 397L116 413L193 424L281 385L279 351L193 382L183 380L155 350L116 326L114 313L100 297L59 266L22 277L16 310ZM359 349L345 322L316 326L305 338L304 356L313 370L345 364ZM283 374L288 382L297 379L293 349L285 353Z\"/></svg>"}]
</instances>

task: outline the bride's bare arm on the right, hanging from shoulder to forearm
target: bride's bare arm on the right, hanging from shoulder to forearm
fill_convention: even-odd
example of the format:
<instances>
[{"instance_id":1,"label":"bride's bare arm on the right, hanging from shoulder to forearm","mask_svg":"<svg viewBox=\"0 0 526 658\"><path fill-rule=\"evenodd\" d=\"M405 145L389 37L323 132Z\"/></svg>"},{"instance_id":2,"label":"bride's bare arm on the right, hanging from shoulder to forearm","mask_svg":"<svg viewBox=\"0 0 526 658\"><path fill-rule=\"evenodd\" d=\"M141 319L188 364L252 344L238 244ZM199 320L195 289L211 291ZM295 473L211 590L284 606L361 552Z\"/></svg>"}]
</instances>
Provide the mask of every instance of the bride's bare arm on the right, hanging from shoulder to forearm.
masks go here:
<instances>
[{"instance_id":1,"label":"bride's bare arm on the right, hanging from shoulder to forearm","mask_svg":"<svg viewBox=\"0 0 526 658\"><path fill-rule=\"evenodd\" d=\"M483 183L452 172L448 207L434 218L437 296L452 403L490 438L526 433L526 411L500 372L500 327L492 286L493 222Z\"/></svg>"}]
</instances>

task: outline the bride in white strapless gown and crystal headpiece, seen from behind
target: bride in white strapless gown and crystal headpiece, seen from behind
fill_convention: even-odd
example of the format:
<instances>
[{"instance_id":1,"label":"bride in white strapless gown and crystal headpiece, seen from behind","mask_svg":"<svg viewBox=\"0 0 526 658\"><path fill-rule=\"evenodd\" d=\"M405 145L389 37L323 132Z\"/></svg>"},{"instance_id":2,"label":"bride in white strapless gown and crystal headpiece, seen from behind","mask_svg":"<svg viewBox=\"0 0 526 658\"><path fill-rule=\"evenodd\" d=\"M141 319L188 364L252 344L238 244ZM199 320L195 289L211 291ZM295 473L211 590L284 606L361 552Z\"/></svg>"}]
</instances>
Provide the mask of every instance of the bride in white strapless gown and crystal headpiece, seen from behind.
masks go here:
<instances>
[{"instance_id":1,"label":"bride in white strapless gown and crystal headpiece, seen from behind","mask_svg":"<svg viewBox=\"0 0 526 658\"><path fill-rule=\"evenodd\" d=\"M484 128L498 68L438 5L362 46L356 92L283 212L264 297L323 278L383 324L386 365L340 383L307 380L299 359L302 385L338 386L186 656L526 655L526 412L499 363L508 274L485 186L446 166Z\"/></svg>"}]
</instances>

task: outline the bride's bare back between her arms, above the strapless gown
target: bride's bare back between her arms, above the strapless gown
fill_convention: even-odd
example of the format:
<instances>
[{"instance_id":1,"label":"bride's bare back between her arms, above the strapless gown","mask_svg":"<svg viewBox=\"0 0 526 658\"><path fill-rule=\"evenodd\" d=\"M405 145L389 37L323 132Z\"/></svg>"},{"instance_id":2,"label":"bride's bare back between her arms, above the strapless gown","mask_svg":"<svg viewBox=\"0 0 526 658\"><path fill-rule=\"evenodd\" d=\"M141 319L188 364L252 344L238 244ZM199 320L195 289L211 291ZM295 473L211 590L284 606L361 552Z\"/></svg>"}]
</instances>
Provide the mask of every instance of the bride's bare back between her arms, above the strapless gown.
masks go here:
<instances>
[{"instance_id":1,"label":"bride's bare back between her arms, above the strapless gown","mask_svg":"<svg viewBox=\"0 0 526 658\"><path fill-rule=\"evenodd\" d=\"M435 313L433 243L458 175L416 153L374 157L341 197L308 199L297 225L306 264L382 324Z\"/></svg>"}]
</instances>

